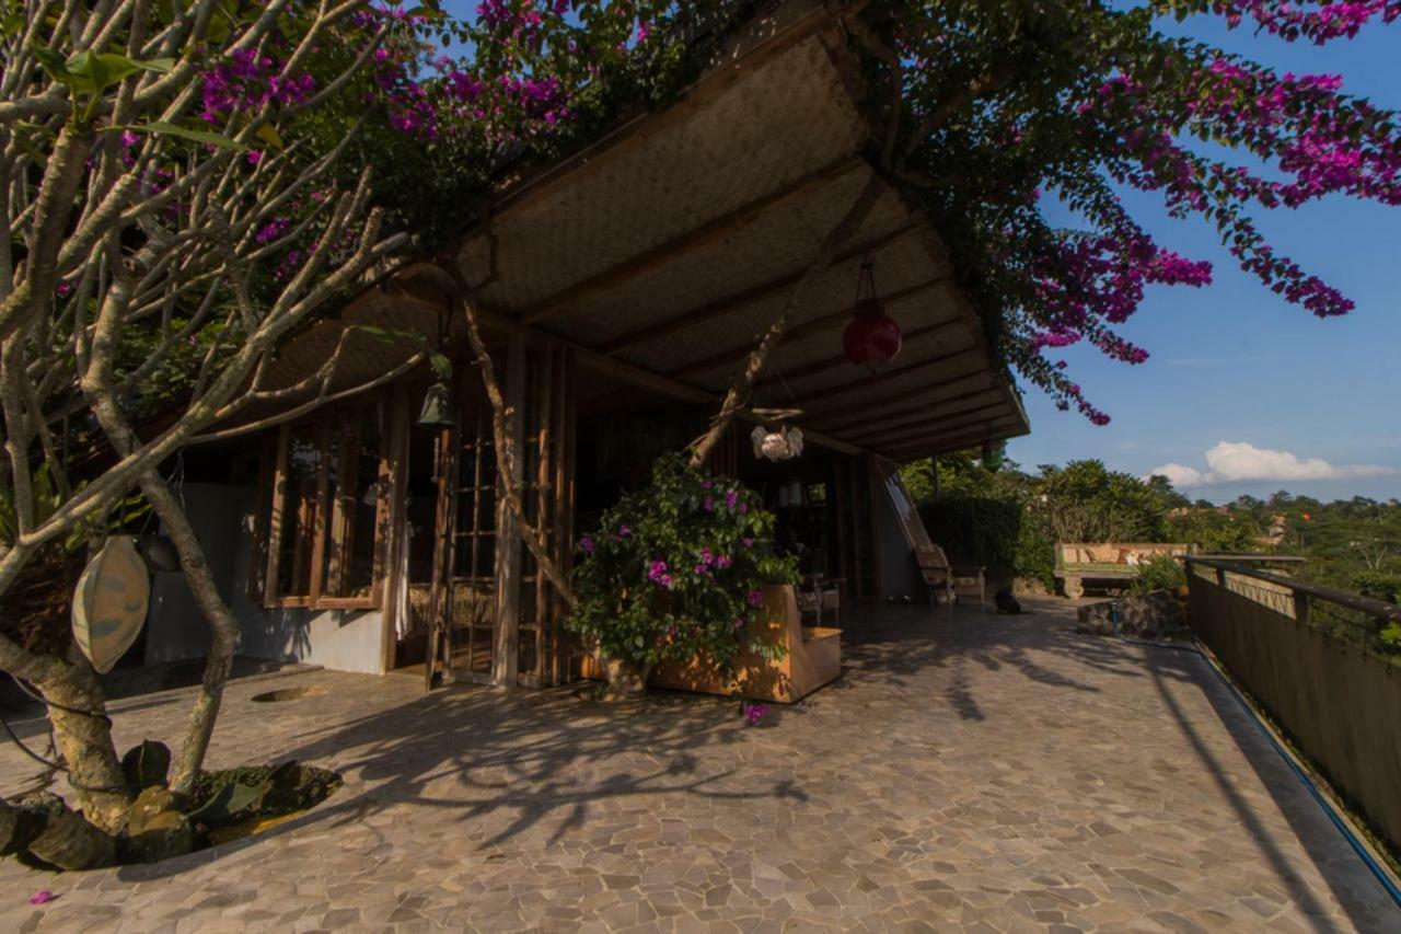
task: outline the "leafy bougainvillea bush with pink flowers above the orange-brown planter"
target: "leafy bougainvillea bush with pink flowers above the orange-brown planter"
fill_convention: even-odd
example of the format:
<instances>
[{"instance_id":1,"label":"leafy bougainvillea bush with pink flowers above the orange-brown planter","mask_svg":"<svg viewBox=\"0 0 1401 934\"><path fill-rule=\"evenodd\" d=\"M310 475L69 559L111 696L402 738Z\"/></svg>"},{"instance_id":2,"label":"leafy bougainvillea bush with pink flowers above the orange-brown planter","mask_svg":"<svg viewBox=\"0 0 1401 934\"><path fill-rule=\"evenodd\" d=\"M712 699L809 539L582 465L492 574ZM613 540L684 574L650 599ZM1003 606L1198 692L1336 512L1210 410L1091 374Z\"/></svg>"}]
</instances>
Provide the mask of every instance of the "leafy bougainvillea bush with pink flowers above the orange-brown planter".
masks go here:
<instances>
[{"instance_id":1,"label":"leafy bougainvillea bush with pink flowers above the orange-brown planter","mask_svg":"<svg viewBox=\"0 0 1401 934\"><path fill-rule=\"evenodd\" d=\"M796 564L775 551L773 513L738 481L668 454L577 548L570 625L605 659L644 670L664 658L727 669L745 651L779 656L759 625L762 588L793 582Z\"/></svg>"}]
</instances>

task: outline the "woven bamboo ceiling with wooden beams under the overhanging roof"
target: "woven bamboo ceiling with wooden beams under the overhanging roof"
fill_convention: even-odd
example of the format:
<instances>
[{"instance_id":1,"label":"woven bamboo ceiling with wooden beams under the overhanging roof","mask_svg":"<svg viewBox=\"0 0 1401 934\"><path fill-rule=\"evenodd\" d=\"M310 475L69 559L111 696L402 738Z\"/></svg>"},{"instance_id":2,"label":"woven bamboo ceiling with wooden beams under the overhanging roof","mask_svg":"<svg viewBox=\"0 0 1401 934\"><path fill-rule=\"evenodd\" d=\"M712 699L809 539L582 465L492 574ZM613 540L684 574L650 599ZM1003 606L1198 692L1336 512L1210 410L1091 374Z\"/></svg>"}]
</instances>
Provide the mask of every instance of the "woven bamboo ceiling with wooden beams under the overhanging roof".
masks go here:
<instances>
[{"instance_id":1,"label":"woven bamboo ceiling with wooden beams under the overhanging roof","mask_svg":"<svg viewBox=\"0 0 1401 934\"><path fill-rule=\"evenodd\" d=\"M713 402L871 175L859 100L841 22L789 0L733 39L681 102L507 181L490 210L496 278L481 306L499 327L570 342L586 370L621 369ZM488 278L485 230L457 255L469 282ZM842 353L863 258L905 335L874 373ZM801 408L817 440L898 461L1024 435L1017 393L951 272L929 220L887 191L796 309L751 404ZM401 280L443 290L427 268ZM349 323L432 334L434 314L370 290L294 341L273 381L314 367ZM409 352L352 341L338 383L373 379Z\"/></svg>"}]
</instances>

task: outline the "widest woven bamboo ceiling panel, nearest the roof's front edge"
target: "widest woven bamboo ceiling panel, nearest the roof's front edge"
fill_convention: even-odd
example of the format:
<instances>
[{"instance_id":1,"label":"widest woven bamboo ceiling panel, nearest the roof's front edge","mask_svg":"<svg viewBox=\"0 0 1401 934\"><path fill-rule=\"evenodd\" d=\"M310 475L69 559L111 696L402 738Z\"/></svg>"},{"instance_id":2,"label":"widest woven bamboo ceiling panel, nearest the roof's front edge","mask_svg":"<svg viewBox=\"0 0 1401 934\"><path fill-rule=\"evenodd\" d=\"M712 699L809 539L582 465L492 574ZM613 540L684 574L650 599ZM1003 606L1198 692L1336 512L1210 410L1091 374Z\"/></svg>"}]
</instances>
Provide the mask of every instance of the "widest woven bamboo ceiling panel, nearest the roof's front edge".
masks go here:
<instances>
[{"instance_id":1,"label":"widest woven bamboo ceiling panel, nearest the roof's front edge","mask_svg":"<svg viewBox=\"0 0 1401 934\"><path fill-rule=\"evenodd\" d=\"M483 299L518 311L855 153L864 125L814 36L654 135L615 146L548 195L499 219L500 282ZM485 241L464 265L486 271Z\"/></svg>"}]
</instances>

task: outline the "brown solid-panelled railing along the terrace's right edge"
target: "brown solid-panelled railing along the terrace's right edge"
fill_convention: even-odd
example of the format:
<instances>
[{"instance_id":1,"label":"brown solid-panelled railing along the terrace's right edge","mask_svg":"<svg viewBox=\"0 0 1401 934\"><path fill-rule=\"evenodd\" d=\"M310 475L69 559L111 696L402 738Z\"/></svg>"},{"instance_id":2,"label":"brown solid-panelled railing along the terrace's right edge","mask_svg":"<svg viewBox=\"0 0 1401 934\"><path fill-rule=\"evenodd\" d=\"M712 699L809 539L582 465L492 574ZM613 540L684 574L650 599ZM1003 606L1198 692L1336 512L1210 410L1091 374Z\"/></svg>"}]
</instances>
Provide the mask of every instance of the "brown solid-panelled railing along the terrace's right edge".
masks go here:
<instances>
[{"instance_id":1,"label":"brown solid-panelled railing along the terrace's right edge","mask_svg":"<svg viewBox=\"0 0 1401 934\"><path fill-rule=\"evenodd\" d=\"M1188 557L1188 623L1393 853L1401 851L1401 607Z\"/></svg>"}]
</instances>

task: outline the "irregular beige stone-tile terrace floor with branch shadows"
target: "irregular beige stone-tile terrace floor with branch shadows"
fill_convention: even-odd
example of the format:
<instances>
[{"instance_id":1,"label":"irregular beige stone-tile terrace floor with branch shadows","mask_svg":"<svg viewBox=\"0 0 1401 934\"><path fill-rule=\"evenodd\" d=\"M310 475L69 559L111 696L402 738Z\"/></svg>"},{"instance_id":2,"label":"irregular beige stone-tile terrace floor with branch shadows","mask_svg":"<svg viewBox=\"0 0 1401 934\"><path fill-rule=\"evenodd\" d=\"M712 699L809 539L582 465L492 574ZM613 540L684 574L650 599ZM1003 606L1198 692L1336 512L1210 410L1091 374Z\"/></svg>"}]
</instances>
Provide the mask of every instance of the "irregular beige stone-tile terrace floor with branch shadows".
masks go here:
<instances>
[{"instance_id":1,"label":"irregular beige stone-tile terrace floor with branch shadows","mask_svg":"<svg viewBox=\"0 0 1401 934\"><path fill-rule=\"evenodd\" d=\"M1076 635L1066 606L852 607L842 679L757 728L679 694L238 683L210 764L346 787L165 864L0 864L0 930L1401 930L1199 658ZM293 686L329 690L251 700ZM115 707L123 747L185 714ZM0 750L0 790L31 773Z\"/></svg>"}]
</instances>

